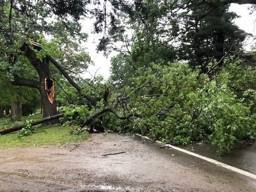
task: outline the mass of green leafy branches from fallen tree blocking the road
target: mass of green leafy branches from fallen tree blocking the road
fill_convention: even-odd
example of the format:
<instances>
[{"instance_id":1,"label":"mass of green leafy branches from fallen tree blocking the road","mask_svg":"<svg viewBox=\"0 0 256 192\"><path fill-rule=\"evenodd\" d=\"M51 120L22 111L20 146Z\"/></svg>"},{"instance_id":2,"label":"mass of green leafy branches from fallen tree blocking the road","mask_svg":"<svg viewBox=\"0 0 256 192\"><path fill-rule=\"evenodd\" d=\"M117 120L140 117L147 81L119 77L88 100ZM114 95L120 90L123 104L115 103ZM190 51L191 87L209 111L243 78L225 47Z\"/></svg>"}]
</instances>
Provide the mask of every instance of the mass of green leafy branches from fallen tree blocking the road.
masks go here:
<instances>
[{"instance_id":1,"label":"mass of green leafy branches from fallen tree blocking the road","mask_svg":"<svg viewBox=\"0 0 256 192\"><path fill-rule=\"evenodd\" d=\"M229 152L243 139L255 139L255 70L242 70L242 63L228 62L212 79L177 61L138 69L134 84L125 87L133 98L126 113L142 116L133 119L130 130L181 145L209 137L218 146L217 154ZM241 81L245 74L247 80Z\"/></svg>"}]
</instances>

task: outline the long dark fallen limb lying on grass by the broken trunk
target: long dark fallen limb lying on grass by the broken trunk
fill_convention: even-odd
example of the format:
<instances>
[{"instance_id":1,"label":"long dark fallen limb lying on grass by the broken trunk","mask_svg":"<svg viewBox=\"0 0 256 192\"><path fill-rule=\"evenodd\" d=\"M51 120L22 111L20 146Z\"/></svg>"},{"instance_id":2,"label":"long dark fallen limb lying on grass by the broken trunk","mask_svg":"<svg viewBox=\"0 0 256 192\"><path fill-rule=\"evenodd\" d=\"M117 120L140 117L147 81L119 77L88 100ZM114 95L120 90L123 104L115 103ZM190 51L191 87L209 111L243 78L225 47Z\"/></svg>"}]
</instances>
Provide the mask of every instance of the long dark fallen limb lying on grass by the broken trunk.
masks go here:
<instances>
[{"instance_id":1,"label":"long dark fallen limb lying on grass by the broken trunk","mask_svg":"<svg viewBox=\"0 0 256 192\"><path fill-rule=\"evenodd\" d=\"M54 120L54 119L58 119L58 118L64 117L64 114L65 114L65 113L60 113L60 114L57 114L57 115L54 115L54 116L48 116L48 117L45 117L45 118L40 119L40 120L38 120L38 121L32 122L31 125L32 125L32 126L34 126L34 125L39 125L39 124L44 123L44 122L47 122L47 121L51 121L51 120ZM10 127L10 128L2 129L2 130L0 131L0 135L8 134L8 133L11 133L11 132L14 132L14 131L19 131L19 130L21 130L23 127L24 127L24 125L15 125L15 126Z\"/></svg>"}]
</instances>

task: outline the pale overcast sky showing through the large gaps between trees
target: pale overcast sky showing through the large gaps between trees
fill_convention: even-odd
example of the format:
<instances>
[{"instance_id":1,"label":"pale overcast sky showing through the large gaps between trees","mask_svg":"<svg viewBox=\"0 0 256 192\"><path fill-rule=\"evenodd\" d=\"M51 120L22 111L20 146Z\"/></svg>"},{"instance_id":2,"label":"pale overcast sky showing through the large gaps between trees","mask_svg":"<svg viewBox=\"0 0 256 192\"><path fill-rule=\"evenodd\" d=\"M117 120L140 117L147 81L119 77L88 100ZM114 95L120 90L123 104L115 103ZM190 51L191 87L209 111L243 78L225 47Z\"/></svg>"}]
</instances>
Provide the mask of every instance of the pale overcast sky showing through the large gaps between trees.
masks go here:
<instances>
[{"instance_id":1,"label":"pale overcast sky showing through the large gaps between trees","mask_svg":"<svg viewBox=\"0 0 256 192\"><path fill-rule=\"evenodd\" d=\"M241 17L235 20L235 23L237 26L239 26L240 29L243 29L247 33L251 33L253 35L256 35L256 13L253 13L253 15L249 15L249 10L247 9L248 5L238 5L238 4L231 4L230 11L236 12ZM87 32L89 35L88 40L86 42L85 47L87 47L87 52L89 52L89 55L91 56L92 60L94 61L94 66L90 66L88 68L88 71L94 75L97 71L97 75L104 76L104 79L108 79L110 76L110 59L112 56L116 55L116 53L111 53L108 58L105 58L102 54L102 52L97 53L96 52L96 45L99 42L98 40L102 37L101 35L94 35L90 32L93 30L92 22L90 20L84 20L83 21L83 31ZM253 41L253 38L250 38L247 41L247 46L245 49L250 49L251 46L255 45L255 41ZM86 78L90 78L89 73L85 73L83 75Z\"/></svg>"}]
</instances>

